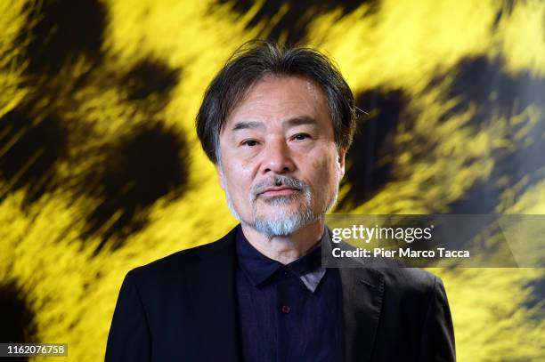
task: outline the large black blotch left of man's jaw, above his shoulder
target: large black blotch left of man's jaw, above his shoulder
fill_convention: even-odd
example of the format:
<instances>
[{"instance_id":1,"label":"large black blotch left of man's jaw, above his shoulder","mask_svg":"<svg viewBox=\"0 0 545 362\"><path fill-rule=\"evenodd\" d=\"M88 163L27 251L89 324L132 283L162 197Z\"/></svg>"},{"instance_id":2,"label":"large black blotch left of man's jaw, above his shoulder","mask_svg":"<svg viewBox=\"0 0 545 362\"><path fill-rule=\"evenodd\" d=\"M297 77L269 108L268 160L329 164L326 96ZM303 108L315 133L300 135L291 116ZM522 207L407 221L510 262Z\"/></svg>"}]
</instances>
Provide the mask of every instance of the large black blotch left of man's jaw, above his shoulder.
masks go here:
<instances>
[{"instance_id":1,"label":"large black blotch left of man's jaw, above his shoulder","mask_svg":"<svg viewBox=\"0 0 545 362\"><path fill-rule=\"evenodd\" d=\"M188 186L188 155L183 135L160 123L144 125L111 146L94 195L102 203L89 214L84 237L100 232L99 250L112 236L117 236L114 248L122 245L124 237L145 226L146 208L160 197L182 196ZM85 185L85 190L93 187Z\"/></svg>"}]
</instances>

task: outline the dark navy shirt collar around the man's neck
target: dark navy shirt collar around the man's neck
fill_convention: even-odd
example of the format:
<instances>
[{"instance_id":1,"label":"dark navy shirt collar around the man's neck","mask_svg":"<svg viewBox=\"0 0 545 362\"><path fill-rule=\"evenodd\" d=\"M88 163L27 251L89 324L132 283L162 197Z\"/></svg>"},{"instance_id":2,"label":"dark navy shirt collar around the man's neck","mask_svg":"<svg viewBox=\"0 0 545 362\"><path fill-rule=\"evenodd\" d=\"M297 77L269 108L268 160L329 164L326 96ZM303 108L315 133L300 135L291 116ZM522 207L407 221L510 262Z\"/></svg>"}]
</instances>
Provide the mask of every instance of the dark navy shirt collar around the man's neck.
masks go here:
<instances>
[{"instance_id":1,"label":"dark navy shirt collar around the man's neck","mask_svg":"<svg viewBox=\"0 0 545 362\"><path fill-rule=\"evenodd\" d=\"M329 241L327 229L321 237L321 241L311 248L297 261L292 261L283 266L281 262L268 258L259 253L244 236L242 228L238 227L236 233L236 249L239 257L239 264L244 269L254 286L264 284L278 269L287 268L293 272L306 286L308 290L314 292L321 279L326 273L326 269L321 267L321 243Z\"/></svg>"}]
</instances>

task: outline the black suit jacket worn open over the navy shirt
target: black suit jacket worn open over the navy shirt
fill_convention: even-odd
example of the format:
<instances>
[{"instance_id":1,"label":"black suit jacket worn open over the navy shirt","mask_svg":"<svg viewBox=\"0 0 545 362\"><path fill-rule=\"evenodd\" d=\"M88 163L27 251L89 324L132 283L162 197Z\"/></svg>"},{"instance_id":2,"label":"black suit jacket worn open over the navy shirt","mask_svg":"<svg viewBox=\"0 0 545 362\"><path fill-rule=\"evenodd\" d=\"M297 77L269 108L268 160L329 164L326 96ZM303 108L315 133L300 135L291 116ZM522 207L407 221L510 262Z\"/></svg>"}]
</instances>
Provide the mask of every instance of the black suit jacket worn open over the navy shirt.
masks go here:
<instances>
[{"instance_id":1,"label":"black suit jacket worn open over the navy shirt","mask_svg":"<svg viewBox=\"0 0 545 362\"><path fill-rule=\"evenodd\" d=\"M129 271L106 360L239 361L234 241L232 229ZM340 276L345 361L455 360L441 279L403 268L346 268Z\"/></svg>"}]
</instances>

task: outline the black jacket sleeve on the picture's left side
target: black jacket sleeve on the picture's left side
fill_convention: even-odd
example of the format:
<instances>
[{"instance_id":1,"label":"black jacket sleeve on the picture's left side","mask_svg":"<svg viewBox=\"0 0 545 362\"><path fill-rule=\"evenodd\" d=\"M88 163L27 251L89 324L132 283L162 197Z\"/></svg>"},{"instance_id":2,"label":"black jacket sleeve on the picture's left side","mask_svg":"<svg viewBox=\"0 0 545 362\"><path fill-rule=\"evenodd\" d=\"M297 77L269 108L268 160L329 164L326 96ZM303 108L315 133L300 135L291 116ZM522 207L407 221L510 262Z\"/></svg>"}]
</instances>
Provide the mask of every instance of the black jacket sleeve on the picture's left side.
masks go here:
<instances>
[{"instance_id":1,"label":"black jacket sleeve on the picture's left side","mask_svg":"<svg viewBox=\"0 0 545 362\"><path fill-rule=\"evenodd\" d=\"M150 361L150 329L134 282L134 270L127 273L119 291L105 361Z\"/></svg>"}]
</instances>

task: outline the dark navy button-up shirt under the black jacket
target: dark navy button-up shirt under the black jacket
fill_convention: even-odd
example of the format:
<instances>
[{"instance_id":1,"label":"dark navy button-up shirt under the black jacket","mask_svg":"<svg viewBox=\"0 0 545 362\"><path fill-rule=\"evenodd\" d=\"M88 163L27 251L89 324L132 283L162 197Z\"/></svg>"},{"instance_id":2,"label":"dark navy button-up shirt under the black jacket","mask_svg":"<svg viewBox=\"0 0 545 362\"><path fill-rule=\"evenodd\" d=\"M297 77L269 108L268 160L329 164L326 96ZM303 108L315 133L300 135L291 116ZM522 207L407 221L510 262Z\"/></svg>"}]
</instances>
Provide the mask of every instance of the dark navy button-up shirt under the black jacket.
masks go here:
<instances>
[{"instance_id":1,"label":"dark navy button-up shirt under the black jacket","mask_svg":"<svg viewBox=\"0 0 545 362\"><path fill-rule=\"evenodd\" d=\"M322 242L328 233L324 232ZM249 244L239 226L236 285L245 362L342 359L338 269L321 267L321 243L287 265Z\"/></svg>"}]
</instances>

